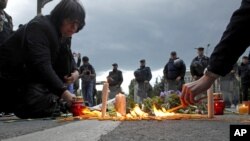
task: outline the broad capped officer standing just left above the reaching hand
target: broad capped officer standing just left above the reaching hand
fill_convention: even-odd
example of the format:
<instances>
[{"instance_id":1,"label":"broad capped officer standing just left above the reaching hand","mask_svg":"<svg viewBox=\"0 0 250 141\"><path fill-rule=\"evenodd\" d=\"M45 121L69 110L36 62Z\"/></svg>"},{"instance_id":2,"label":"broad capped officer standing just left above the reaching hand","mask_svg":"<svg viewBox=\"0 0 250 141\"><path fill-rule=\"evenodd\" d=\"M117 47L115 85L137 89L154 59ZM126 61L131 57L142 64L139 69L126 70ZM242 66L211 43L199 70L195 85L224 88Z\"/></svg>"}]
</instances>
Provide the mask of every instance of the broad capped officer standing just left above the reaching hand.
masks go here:
<instances>
[{"instance_id":1,"label":"broad capped officer standing just left above the reaching hand","mask_svg":"<svg viewBox=\"0 0 250 141\"><path fill-rule=\"evenodd\" d=\"M165 65L163 74L165 79L165 90L181 91L184 84L184 76L186 73L186 65L184 61L177 57L175 51L171 52L171 57Z\"/></svg>"}]
</instances>

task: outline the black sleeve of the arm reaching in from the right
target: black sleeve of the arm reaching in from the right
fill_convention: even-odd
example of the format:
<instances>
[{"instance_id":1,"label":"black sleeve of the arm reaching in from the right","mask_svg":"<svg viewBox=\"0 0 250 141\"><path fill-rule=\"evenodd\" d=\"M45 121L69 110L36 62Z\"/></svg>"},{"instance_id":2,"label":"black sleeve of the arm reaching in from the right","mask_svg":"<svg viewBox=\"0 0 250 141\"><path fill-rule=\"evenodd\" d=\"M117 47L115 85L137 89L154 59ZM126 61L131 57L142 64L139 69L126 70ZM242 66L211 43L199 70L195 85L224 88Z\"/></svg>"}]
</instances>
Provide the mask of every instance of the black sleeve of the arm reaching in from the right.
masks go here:
<instances>
[{"instance_id":1,"label":"black sleeve of the arm reaching in from the right","mask_svg":"<svg viewBox=\"0 0 250 141\"><path fill-rule=\"evenodd\" d=\"M249 13L250 0L242 0L240 8L233 13L226 31L210 57L209 71L225 76L250 45Z\"/></svg>"}]
</instances>

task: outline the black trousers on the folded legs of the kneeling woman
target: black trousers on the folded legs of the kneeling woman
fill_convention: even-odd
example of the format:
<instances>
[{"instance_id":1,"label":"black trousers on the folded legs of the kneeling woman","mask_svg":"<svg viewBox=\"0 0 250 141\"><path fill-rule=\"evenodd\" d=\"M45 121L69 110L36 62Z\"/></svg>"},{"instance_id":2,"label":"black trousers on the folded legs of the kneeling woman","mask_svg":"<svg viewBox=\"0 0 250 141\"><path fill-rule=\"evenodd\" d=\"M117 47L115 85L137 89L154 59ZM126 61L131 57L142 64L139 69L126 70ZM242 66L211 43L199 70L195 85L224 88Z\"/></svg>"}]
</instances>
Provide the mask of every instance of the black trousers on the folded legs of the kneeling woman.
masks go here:
<instances>
[{"instance_id":1,"label":"black trousers on the folded legs of the kneeling woman","mask_svg":"<svg viewBox=\"0 0 250 141\"><path fill-rule=\"evenodd\" d=\"M0 111L19 118L51 117L60 112L59 97L43 84L22 84L0 78Z\"/></svg>"}]
</instances>

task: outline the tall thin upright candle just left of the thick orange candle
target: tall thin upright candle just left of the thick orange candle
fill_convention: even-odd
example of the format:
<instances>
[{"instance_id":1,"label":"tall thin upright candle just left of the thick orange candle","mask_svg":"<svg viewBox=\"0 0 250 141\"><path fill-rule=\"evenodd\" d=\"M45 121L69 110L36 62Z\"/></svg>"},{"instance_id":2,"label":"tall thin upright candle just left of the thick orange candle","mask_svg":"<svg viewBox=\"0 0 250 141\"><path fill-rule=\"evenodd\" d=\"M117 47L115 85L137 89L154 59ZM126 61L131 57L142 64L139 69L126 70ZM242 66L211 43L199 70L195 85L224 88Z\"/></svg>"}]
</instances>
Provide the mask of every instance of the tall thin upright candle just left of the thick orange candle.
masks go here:
<instances>
[{"instance_id":1,"label":"tall thin upright candle just left of the thick orange candle","mask_svg":"<svg viewBox=\"0 0 250 141\"><path fill-rule=\"evenodd\" d=\"M105 82L102 88L102 117L106 116L108 94L109 94L109 84Z\"/></svg>"}]
</instances>

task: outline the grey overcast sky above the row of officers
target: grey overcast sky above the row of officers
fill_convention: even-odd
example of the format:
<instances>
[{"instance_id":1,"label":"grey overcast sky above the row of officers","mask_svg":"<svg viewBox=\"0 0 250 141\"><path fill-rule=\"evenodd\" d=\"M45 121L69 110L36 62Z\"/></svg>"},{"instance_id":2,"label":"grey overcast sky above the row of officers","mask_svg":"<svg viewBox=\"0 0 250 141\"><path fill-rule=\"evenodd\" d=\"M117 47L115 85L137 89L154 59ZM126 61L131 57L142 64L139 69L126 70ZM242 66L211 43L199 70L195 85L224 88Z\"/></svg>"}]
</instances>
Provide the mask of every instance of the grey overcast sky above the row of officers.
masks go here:
<instances>
[{"instance_id":1,"label":"grey overcast sky above the row of officers","mask_svg":"<svg viewBox=\"0 0 250 141\"><path fill-rule=\"evenodd\" d=\"M6 11L15 27L36 15L36 1L9 0ZM59 1L49 2L43 14L48 14ZM139 67L140 59L146 59L153 71L161 70L171 51L176 51L189 67L196 55L194 48L210 44L207 51L210 55L241 0L82 2L87 14L86 26L74 35L72 50L89 56L101 75L114 62L122 70L132 72Z\"/></svg>"}]
</instances>

